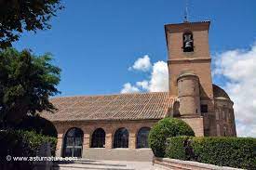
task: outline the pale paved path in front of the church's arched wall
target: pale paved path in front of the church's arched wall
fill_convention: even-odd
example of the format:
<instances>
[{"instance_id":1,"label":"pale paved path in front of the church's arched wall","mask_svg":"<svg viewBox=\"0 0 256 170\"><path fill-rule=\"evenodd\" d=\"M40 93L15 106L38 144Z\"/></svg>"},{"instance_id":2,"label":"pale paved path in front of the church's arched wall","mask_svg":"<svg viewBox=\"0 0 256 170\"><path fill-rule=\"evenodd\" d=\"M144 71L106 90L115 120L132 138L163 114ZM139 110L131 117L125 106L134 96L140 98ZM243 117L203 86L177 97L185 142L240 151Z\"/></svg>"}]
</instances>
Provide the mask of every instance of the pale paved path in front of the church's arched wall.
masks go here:
<instances>
[{"instance_id":1,"label":"pale paved path in front of the church's arched wall","mask_svg":"<svg viewBox=\"0 0 256 170\"><path fill-rule=\"evenodd\" d=\"M58 163L55 170L154 170L151 162L92 161L79 160L75 163Z\"/></svg>"}]
</instances>

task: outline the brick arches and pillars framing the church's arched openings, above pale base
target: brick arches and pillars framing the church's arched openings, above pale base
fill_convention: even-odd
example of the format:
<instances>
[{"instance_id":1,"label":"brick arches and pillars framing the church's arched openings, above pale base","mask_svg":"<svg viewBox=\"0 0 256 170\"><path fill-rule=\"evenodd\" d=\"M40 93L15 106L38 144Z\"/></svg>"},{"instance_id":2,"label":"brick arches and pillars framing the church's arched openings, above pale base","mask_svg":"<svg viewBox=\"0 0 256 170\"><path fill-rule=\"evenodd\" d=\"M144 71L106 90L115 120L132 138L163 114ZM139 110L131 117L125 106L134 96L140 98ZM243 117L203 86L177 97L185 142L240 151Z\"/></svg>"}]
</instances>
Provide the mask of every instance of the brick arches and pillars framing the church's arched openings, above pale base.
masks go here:
<instances>
[{"instance_id":1,"label":"brick arches and pillars framing the church's arched openings, above pale base","mask_svg":"<svg viewBox=\"0 0 256 170\"><path fill-rule=\"evenodd\" d=\"M90 148L90 142L92 133L97 128L104 129L106 133L105 138L105 149L110 150L113 149L113 141L115 131L118 128L125 127L128 129L128 149L134 150L136 149L136 138L138 131L141 127L152 127L158 120L155 121L115 121L115 122L59 122L54 123L56 129L58 131L58 143L56 154L61 155L62 147L63 147L63 138L65 133L72 127L80 128L84 132L84 141L83 141L83 150ZM86 150L84 150L86 151ZM85 155L86 153L83 153Z\"/></svg>"}]
</instances>

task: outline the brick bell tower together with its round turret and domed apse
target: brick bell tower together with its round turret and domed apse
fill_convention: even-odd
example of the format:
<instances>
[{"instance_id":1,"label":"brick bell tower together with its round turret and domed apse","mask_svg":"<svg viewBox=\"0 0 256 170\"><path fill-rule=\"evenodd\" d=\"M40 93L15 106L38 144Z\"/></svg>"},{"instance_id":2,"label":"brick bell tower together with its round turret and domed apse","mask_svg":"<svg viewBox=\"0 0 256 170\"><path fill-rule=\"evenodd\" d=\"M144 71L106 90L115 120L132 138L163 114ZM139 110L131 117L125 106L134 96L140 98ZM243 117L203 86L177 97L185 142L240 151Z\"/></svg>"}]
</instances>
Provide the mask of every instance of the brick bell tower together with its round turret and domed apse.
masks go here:
<instances>
[{"instance_id":1,"label":"brick bell tower together with its round turret and domed apse","mask_svg":"<svg viewBox=\"0 0 256 170\"><path fill-rule=\"evenodd\" d=\"M212 85L209 24L184 20L165 25L169 95L177 98L170 114L194 127L197 135L225 136L229 128L229 135L236 136L233 101ZM226 115L232 117L230 122L223 118Z\"/></svg>"}]
</instances>

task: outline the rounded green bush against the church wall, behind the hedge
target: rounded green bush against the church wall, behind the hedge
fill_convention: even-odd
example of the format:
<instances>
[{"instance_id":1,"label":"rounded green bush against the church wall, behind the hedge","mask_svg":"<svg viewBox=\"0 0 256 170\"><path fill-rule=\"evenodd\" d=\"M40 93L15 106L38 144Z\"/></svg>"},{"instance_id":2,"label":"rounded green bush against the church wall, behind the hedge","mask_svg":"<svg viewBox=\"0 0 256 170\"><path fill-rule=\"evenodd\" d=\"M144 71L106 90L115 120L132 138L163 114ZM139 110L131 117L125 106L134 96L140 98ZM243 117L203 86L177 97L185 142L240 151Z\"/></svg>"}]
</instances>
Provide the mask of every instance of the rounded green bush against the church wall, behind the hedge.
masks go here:
<instances>
[{"instance_id":1,"label":"rounded green bush against the church wall, behind the hedge","mask_svg":"<svg viewBox=\"0 0 256 170\"><path fill-rule=\"evenodd\" d=\"M149 146L156 157L164 157L168 137L195 136L192 128L180 119L165 118L155 124L149 133Z\"/></svg>"}]
</instances>

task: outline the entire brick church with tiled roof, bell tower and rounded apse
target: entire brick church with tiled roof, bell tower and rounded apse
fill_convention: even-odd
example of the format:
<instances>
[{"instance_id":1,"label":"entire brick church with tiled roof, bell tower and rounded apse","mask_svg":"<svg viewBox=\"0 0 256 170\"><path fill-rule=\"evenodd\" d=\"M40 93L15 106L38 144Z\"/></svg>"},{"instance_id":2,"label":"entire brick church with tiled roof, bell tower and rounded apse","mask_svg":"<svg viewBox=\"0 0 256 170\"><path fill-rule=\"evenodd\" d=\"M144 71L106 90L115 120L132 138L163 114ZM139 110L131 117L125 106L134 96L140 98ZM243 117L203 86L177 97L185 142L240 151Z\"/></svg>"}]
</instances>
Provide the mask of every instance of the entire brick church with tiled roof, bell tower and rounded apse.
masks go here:
<instances>
[{"instance_id":1,"label":"entire brick church with tiled roof, bell tower and rounded apse","mask_svg":"<svg viewBox=\"0 0 256 170\"><path fill-rule=\"evenodd\" d=\"M236 137L233 101L212 84L210 22L165 25L168 92L52 98L43 112L58 132L56 156L151 161L151 127L165 117L189 124L196 137Z\"/></svg>"}]
</instances>

